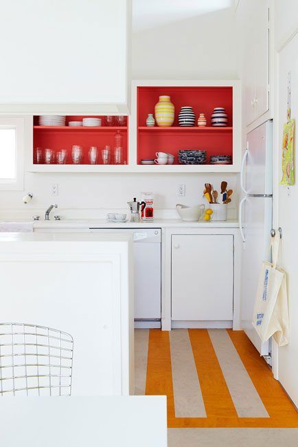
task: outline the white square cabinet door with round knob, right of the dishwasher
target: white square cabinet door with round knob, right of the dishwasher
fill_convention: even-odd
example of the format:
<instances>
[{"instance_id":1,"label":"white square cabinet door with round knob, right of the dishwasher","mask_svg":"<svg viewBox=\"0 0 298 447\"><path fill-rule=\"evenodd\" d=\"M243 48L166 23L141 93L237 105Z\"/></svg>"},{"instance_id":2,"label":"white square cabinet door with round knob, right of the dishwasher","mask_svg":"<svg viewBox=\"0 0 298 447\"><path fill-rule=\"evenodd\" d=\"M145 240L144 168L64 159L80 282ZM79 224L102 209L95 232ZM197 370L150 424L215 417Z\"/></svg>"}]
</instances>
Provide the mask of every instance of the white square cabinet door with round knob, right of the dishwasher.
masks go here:
<instances>
[{"instance_id":1,"label":"white square cabinet door with round knob, right of the dishwasher","mask_svg":"<svg viewBox=\"0 0 298 447\"><path fill-rule=\"evenodd\" d=\"M233 319L233 236L172 236L172 320Z\"/></svg>"}]
</instances>

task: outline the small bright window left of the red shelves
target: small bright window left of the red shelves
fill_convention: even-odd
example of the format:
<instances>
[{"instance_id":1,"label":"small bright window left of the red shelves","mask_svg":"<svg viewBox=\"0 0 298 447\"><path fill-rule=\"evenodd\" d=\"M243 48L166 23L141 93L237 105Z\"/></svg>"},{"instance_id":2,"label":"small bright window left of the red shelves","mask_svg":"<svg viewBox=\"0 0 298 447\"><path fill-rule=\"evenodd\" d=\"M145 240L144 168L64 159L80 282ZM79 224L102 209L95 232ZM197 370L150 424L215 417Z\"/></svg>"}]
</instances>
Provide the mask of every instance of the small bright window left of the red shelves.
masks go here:
<instances>
[{"instance_id":1,"label":"small bright window left of the red shelves","mask_svg":"<svg viewBox=\"0 0 298 447\"><path fill-rule=\"evenodd\" d=\"M0 118L0 190L23 190L23 118Z\"/></svg>"}]
</instances>

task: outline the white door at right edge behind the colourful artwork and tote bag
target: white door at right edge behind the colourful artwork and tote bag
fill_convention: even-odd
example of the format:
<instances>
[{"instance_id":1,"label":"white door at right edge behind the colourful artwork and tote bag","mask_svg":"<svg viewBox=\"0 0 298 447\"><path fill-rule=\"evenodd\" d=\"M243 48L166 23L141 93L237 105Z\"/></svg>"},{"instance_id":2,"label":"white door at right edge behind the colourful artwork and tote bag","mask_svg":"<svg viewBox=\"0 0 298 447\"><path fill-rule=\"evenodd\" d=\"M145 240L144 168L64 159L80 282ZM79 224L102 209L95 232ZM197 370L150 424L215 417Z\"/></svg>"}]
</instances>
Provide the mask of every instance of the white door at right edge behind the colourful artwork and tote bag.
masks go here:
<instances>
[{"instance_id":1,"label":"white door at right edge behind the colourful artwork and tote bag","mask_svg":"<svg viewBox=\"0 0 298 447\"><path fill-rule=\"evenodd\" d=\"M288 73L291 78L291 116L298 120L298 34L279 53L279 110L277 122L278 149L276 157L279 164L279 181L282 177L282 128L286 122ZM297 132L297 130L296 130ZM297 141L297 138L296 138ZM297 144L296 144L297 148ZM297 155L296 155L297 162ZM297 175L297 171L296 171ZM279 186L279 212L278 223L282 227L282 248L279 256L279 265L288 275L288 298L290 312L290 342L288 346L278 349L278 378L284 389L298 406L298 274L297 274L297 221L298 221L298 186L289 188ZM278 226L278 225L276 225ZM278 234L278 232L277 232Z\"/></svg>"}]
</instances>

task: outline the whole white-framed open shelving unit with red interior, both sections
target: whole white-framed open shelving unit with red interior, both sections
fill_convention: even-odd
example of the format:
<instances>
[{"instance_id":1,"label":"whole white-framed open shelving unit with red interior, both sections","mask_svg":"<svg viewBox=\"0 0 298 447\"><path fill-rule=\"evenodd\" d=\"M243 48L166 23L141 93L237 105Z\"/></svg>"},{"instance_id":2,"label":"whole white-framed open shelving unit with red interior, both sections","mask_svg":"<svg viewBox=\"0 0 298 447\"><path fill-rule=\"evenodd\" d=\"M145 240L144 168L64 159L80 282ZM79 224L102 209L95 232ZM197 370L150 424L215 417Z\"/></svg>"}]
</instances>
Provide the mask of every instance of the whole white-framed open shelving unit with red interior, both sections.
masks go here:
<instances>
[{"instance_id":1,"label":"whole white-framed open shelving unit with red interior, both sections","mask_svg":"<svg viewBox=\"0 0 298 447\"><path fill-rule=\"evenodd\" d=\"M148 113L154 113L154 105L162 94L170 95L175 106L172 127L146 127ZM179 127L178 114L181 107L193 107L196 117L205 113L207 127ZM227 127L211 127L210 118L214 107L225 107L228 114ZM92 109L92 108L91 108ZM46 114L46 113L45 113ZM56 111L54 114L65 114ZM82 120L84 116L95 116L76 110L67 116L71 120ZM75 116L76 115L76 116ZM209 173L239 172L241 157L241 109L239 80L134 80L132 84L131 114L126 127L107 127L102 118L102 127L52 127L39 126L38 116L32 116L28 129L28 144L32 148L27 157L29 172L64 173ZM113 151L115 133L123 136L124 162L126 164L102 164L101 149L106 144ZM84 163L71 164L71 146L84 148ZM67 149L67 164L34 164L34 148L49 147L54 150ZM99 150L98 164L88 164L90 146ZM206 164L185 165L178 162L179 149L202 149L207 151ZM142 158L155 158L157 151L172 153L172 165L143 165ZM232 164L209 164L210 155L231 155Z\"/></svg>"}]
</instances>

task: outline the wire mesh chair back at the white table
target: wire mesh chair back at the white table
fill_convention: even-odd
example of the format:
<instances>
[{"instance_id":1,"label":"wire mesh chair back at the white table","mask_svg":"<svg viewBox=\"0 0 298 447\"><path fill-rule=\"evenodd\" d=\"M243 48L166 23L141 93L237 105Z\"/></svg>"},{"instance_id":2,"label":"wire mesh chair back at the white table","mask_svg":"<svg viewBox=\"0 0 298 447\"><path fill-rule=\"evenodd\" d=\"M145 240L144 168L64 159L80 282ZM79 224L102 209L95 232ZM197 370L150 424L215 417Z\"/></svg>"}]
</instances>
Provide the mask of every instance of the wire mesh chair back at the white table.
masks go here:
<instances>
[{"instance_id":1,"label":"wire mesh chair back at the white table","mask_svg":"<svg viewBox=\"0 0 298 447\"><path fill-rule=\"evenodd\" d=\"M73 338L23 323L0 323L0 395L71 395Z\"/></svg>"}]
</instances>

